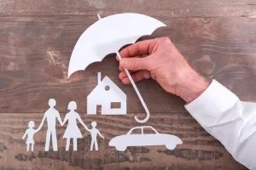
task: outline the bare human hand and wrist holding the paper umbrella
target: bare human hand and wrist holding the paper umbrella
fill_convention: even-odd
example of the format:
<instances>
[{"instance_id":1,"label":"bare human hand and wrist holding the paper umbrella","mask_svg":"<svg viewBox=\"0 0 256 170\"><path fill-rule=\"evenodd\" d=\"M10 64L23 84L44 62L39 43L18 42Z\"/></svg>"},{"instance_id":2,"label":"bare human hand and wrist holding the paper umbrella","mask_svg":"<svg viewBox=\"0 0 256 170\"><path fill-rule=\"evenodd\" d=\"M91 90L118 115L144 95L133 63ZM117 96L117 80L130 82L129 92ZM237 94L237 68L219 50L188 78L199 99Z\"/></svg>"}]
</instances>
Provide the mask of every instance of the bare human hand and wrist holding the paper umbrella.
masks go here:
<instances>
[{"instance_id":1,"label":"bare human hand and wrist holding the paper umbrella","mask_svg":"<svg viewBox=\"0 0 256 170\"><path fill-rule=\"evenodd\" d=\"M119 78L131 83L125 73L130 70L134 82L153 78L166 92L183 98L186 102L196 99L209 86L191 68L168 37L137 42L119 53Z\"/></svg>"}]
</instances>

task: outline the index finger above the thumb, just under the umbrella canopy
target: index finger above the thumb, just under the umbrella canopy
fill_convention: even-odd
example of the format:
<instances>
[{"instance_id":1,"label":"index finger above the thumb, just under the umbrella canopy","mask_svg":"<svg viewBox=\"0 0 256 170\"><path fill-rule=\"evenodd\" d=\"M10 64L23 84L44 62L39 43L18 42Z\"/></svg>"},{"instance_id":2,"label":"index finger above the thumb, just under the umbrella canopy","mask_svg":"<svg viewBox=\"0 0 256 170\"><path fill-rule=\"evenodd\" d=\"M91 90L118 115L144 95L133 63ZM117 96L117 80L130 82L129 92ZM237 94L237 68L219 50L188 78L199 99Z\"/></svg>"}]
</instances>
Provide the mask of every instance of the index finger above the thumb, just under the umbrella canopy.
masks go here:
<instances>
[{"instance_id":1,"label":"index finger above the thumb, just under the umbrella canopy","mask_svg":"<svg viewBox=\"0 0 256 170\"><path fill-rule=\"evenodd\" d=\"M130 58L137 55L149 54L150 45L154 41L155 39L151 39L133 43L130 46L122 49L119 54L122 58Z\"/></svg>"}]
</instances>

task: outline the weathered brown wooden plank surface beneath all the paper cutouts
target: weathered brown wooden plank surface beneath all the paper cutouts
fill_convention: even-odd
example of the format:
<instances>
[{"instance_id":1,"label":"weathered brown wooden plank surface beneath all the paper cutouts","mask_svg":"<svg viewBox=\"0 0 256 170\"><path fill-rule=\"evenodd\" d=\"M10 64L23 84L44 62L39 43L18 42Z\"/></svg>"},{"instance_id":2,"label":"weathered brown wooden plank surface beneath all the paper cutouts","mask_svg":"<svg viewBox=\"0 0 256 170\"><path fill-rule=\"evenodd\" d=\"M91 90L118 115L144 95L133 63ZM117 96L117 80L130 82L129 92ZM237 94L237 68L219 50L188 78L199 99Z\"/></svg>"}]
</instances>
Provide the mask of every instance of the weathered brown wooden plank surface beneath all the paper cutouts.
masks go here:
<instances>
[{"instance_id":1,"label":"weathered brown wooden plank surface beneath all the paper cutouts","mask_svg":"<svg viewBox=\"0 0 256 170\"><path fill-rule=\"evenodd\" d=\"M166 23L167 27L141 39L170 37L202 75L223 83L242 100L256 102L255 0L1 0L1 170L246 169L185 111L182 99L167 94L152 80L137 83L151 112L146 124L160 133L177 135L183 144L175 150L152 146L128 147L125 152L108 146L114 136L140 126L133 116L143 118L143 106L133 88L119 81L114 54L69 80L67 67L75 43L97 20L97 13L104 17L125 12L148 14ZM86 97L96 87L97 71L127 94L127 116L86 115ZM99 139L99 151L90 151L85 130L79 151L65 151L65 127L57 124L59 151L44 152L44 123L35 134L34 151L26 152L26 140L21 137L29 121L38 127L49 98L56 99L62 119L68 102L75 100L87 125L98 122L105 136Z\"/></svg>"}]
</instances>

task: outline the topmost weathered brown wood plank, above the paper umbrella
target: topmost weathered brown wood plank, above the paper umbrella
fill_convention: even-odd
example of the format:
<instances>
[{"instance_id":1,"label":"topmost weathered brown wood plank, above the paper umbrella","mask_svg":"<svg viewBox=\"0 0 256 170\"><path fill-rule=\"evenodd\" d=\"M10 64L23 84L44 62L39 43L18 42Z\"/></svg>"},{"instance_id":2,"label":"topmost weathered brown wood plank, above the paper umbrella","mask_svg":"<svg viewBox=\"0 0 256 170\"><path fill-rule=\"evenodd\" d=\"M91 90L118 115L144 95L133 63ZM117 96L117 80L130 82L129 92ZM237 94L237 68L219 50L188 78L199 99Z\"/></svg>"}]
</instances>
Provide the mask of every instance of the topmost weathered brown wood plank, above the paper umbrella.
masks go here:
<instances>
[{"instance_id":1,"label":"topmost weathered brown wood plank, above the paper umbrella","mask_svg":"<svg viewBox=\"0 0 256 170\"><path fill-rule=\"evenodd\" d=\"M143 13L166 17L255 17L255 0L2 0L0 15L85 15Z\"/></svg>"}]
</instances>

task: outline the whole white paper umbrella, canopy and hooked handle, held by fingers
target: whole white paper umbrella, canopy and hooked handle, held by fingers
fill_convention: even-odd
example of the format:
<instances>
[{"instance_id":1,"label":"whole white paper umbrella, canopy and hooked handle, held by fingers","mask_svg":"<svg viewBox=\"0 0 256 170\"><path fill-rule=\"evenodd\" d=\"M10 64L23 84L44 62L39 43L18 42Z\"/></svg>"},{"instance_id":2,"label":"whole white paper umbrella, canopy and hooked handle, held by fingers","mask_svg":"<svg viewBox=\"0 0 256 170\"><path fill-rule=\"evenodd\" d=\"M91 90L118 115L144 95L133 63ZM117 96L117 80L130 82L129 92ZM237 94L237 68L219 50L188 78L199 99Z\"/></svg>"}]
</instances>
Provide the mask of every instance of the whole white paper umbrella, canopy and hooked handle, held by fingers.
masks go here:
<instances>
[{"instance_id":1,"label":"whole white paper umbrella, canopy and hooked handle, held by fingers","mask_svg":"<svg viewBox=\"0 0 256 170\"><path fill-rule=\"evenodd\" d=\"M99 15L98 17L101 19ZM139 37L151 35L161 26L166 25L147 15L131 13L113 14L96 21L84 31L75 45L69 61L68 77L75 71L83 71L91 63L102 61L108 54L116 53L120 59L119 48L125 44L136 42ZM147 105L137 90L129 71L125 69L125 72L147 113L146 118L142 121L138 120L136 116L135 119L137 122L147 122L150 116Z\"/></svg>"}]
</instances>

